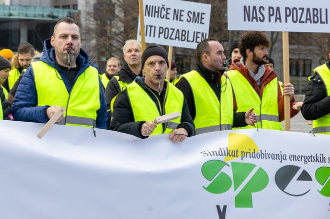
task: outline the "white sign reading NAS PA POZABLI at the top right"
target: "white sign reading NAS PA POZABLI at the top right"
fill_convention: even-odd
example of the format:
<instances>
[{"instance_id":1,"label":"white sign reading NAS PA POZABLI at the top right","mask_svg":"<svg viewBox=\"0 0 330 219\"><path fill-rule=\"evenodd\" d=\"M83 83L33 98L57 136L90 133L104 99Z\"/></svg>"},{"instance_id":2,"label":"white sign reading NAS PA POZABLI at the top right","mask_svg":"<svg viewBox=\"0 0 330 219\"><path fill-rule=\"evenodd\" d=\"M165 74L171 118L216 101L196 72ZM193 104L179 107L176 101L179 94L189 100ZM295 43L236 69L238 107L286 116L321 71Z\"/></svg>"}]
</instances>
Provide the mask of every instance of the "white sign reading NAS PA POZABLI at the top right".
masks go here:
<instances>
[{"instance_id":1,"label":"white sign reading NAS PA POZABLI at the top right","mask_svg":"<svg viewBox=\"0 0 330 219\"><path fill-rule=\"evenodd\" d=\"M229 30L330 32L329 0L228 0Z\"/></svg>"}]
</instances>

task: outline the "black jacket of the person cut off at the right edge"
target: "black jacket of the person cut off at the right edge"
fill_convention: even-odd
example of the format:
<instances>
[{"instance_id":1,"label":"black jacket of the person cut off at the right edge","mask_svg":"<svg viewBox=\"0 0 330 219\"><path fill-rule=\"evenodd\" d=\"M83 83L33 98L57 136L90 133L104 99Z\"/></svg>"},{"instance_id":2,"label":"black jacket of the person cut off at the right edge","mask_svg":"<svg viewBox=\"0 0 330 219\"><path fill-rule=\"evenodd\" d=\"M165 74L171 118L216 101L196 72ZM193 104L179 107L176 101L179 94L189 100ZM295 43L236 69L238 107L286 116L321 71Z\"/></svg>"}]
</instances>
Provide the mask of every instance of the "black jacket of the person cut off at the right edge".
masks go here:
<instances>
[{"instance_id":1,"label":"black jacket of the person cut off at the right edge","mask_svg":"<svg viewBox=\"0 0 330 219\"><path fill-rule=\"evenodd\" d=\"M330 69L330 61L326 63ZM330 113L330 96L326 94L326 88L322 78L317 72L310 78L305 99L301 107L301 114L306 120L316 120Z\"/></svg>"}]
</instances>

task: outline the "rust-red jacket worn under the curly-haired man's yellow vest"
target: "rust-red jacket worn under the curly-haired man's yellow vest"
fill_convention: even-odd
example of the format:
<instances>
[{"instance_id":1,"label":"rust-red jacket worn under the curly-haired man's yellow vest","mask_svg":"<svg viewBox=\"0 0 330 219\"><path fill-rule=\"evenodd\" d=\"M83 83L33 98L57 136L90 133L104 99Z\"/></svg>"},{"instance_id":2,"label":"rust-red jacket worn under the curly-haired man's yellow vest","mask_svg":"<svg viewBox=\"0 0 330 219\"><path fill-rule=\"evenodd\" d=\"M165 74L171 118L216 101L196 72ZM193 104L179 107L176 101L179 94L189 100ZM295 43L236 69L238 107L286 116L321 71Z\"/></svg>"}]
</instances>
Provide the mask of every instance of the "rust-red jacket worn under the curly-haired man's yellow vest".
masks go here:
<instances>
[{"instance_id":1,"label":"rust-red jacket worn under the curly-haired man's yellow vest","mask_svg":"<svg viewBox=\"0 0 330 219\"><path fill-rule=\"evenodd\" d=\"M239 73L241 73L246 80L250 83L250 85L254 88L255 92L259 95L259 97L262 97L263 88L274 78L277 77L275 72L273 72L270 68L265 68L265 72L261 77L261 83L260 83L260 92L258 90L258 85L256 81L250 76L248 69L243 66L240 62L235 62L230 65L230 70L238 70ZM284 98L280 89L280 85L277 85L277 103L278 103L278 120L281 122L284 120ZM292 109L292 106L294 104L294 96L292 97L292 100L290 101L290 117L292 118L295 116L299 111L295 111ZM236 100L234 98L234 108L235 111L237 110Z\"/></svg>"}]
</instances>

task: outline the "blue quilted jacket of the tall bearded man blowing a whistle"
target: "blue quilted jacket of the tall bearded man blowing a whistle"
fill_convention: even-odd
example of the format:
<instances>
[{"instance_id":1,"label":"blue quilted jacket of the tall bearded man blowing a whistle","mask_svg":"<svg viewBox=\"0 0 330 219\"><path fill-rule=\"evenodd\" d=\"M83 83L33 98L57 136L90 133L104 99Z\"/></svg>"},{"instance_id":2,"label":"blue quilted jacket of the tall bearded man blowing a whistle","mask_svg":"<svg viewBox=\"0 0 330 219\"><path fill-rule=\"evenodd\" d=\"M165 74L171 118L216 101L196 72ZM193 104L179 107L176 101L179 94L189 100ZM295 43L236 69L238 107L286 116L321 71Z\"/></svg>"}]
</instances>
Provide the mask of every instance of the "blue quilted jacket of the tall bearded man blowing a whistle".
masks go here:
<instances>
[{"instance_id":1,"label":"blue quilted jacket of the tall bearded man blowing a whistle","mask_svg":"<svg viewBox=\"0 0 330 219\"><path fill-rule=\"evenodd\" d=\"M89 65L96 67L88 58L85 51L80 48L80 53L77 57L78 72L74 78L74 81L87 69ZM63 74L61 68L55 63L55 50L50 44L50 39L46 39L43 43L43 55L40 61L47 63L54 67L65 84L66 90L70 93L72 87L69 80ZM97 67L96 67L97 68ZM97 68L98 70L98 68ZM83 95L83 94L82 94ZM107 128L107 113L106 113L106 102L104 91L102 87L101 79L99 78L99 97L100 97L100 108L97 110L96 127L101 129ZM37 92L34 83L34 73L31 66L29 66L24 76L22 77L20 84L17 88L14 101L12 103L12 115L15 120L25 122L48 122L46 110L49 106L37 106Z\"/></svg>"}]
</instances>

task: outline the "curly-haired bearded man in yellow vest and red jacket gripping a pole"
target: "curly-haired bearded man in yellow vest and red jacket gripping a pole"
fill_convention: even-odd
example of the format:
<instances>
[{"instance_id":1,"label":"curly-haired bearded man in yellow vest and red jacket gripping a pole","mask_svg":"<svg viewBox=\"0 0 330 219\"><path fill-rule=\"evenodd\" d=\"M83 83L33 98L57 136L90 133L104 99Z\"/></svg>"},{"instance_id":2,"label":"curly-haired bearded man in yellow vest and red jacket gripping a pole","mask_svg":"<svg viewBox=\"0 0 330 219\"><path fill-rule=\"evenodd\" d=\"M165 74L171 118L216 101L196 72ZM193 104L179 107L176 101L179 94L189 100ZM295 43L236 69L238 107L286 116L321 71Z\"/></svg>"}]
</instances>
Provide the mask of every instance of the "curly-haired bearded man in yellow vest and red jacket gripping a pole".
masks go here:
<instances>
[{"instance_id":1,"label":"curly-haired bearded man in yellow vest and red jacket gripping a pole","mask_svg":"<svg viewBox=\"0 0 330 219\"><path fill-rule=\"evenodd\" d=\"M283 95L290 96L292 108L294 88L290 83L283 84L282 95L277 75L270 68L264 67L269 44L270 40L264 32L244 32L238 41L243 57L230 66L226 75L232 85L236 112L246 111L252 106L258 115L257 128L282 130L280 121L284 119Z\"/></svg>"}]
</instances>

